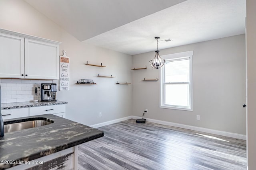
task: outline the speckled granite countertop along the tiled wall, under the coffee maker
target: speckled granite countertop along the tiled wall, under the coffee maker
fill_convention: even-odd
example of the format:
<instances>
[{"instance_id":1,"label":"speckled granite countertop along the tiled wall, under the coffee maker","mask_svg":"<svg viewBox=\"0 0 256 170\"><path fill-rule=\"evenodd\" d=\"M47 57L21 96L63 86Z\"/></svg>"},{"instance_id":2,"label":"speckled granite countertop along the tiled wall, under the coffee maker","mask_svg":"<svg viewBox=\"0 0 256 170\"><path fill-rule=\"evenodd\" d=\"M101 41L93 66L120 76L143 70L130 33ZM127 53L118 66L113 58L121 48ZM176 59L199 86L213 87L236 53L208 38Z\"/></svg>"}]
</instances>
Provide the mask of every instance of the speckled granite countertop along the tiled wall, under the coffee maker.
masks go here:
<instances>
[{"instance_id":1,"label":"speckled granite countertop along the tiled wall, under the coffee maker","mask_svg":"<svg viewBox=\"0 0 256 170\"><path fill-rule=\"evenodd\" d=\"M18 109L24 107L36 107L36 106L50 106L58 104L67 104L68 102L56 101L56 102L17 102L17 103L2 103L2 110L4 109Z\"/></svg>"}]
</instances>

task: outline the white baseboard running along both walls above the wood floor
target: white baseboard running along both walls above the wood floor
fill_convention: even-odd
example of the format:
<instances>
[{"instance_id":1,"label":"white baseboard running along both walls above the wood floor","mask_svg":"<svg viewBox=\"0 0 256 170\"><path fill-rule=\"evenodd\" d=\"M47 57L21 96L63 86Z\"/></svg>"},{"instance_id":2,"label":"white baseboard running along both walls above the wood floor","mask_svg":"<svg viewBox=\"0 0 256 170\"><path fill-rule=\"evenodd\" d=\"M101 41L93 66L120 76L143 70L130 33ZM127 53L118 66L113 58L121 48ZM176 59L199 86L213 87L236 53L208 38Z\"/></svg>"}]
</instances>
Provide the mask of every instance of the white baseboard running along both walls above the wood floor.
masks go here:
<instances>
[{"instance_id":1,"label":"white baseboard running along both walls above the wood floor","mask_svg":"<svg viewBox=\"0 0 256 170\"><path fill-rule=\"evenodd\" d=\"M144 118L146 118L146 117L144 117ZM123 117L123 118L120 118L120 119L115 119L115 120L106 121L106 122L103 122L103 123L94 124L94 125L91 125L90 127L94 127L94 128L102 127L102 126L110 125L112 123L125 121L125 120L128 120L128 119L141 119L141 117L127 116L127 117ZM173 122L169 122L169 121L162 121L162 120L149 119L149 118L146 118L146 120L148 122L152 122L152 123L158 123L158 124L162 124L162 125L180 127L180 128L190 129L190 130L194 130L194 131L212 133L212 134L215 134L215 135L222 135L222 136L226 136L226 137L233 137L233 138L236 138L236 139L246 140L246 135L242 135L242 134L238 134L238 133L218 131L218 130L214 130L214 129L207 129L207 128L204 128L204 127L196 127L196 126L184 125L184 124L180 124L180 123L173 123Z\"/></svg>"}]
</instances>

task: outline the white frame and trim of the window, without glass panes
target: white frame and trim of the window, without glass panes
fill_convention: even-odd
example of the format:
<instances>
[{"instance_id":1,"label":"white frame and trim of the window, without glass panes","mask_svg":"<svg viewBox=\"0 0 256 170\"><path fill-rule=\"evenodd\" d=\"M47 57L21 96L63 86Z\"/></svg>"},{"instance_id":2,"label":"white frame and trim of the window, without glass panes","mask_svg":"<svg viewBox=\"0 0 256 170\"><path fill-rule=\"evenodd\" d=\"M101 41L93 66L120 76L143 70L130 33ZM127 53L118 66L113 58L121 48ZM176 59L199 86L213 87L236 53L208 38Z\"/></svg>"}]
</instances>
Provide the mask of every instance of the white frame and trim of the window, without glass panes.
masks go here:
<instances>
[{"instance_id":1,"label":"white frame and trim of the window, without glass panes","mask_svg":"<svg viewBox=\"0 0 256 170\"><path fill-rule=\"evenodd\" d=\"M160 108L165 109L178 109L178 110L186 110L193 111L193 51L186 51L181 53L174 53L168 55L162 55L162 59L167 61L179 61L190 58L190 82L177 82L177 83L165 83L165 64L160 68L159 77L160 77ZM189 94L190 94L190 107L182 107L182 106L174 106L174 105L166 105L164 104L165 99L165 84L189 84Z\"/></svg>"}]
</instances>

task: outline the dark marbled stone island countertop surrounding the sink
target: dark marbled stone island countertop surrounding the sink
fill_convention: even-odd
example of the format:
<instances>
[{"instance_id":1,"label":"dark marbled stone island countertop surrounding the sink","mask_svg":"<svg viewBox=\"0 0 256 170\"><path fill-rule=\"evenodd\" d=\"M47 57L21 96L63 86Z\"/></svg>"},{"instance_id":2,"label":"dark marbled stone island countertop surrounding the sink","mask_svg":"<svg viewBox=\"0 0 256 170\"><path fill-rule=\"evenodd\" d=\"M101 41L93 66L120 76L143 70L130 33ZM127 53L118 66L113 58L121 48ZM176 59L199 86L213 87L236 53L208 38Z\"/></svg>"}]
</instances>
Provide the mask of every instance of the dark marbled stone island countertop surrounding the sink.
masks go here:
<instances>
[{"instance_id":1,"label":"dark marbled stone island countertop surrounding the sink","mask_svg":"<svg viewBox=\"0 0 256 170\"><path fill-rule=\"evenodd\" d=\"M104 136L103 131L52 114L22 117L22 121L36 117L44 117L54 123L5 133L0 138L0 160L30 161ZM16 123L19 119L4 122ZM0 164L0 170L11 166L15 165Z\"/></svg>"}]
</instances>

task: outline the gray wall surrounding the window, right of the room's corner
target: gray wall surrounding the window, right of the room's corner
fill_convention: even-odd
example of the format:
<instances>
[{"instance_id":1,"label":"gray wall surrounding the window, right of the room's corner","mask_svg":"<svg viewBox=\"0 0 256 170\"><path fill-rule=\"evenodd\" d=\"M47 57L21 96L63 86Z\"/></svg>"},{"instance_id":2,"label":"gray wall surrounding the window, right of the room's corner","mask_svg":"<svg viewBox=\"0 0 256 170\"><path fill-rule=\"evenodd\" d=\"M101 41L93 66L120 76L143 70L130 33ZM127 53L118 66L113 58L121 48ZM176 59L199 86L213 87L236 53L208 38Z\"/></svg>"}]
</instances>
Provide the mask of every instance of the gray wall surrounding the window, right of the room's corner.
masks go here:
<instances>
[{"instance_id":1,"label":"gray wall surrounding the window, right of the room's corner","mask_svg":"<svg viewBox=\"0 0 256 170\"><path fill-rule=\"evenodd\" d=\"M245 135L245 35L163 49L160 55L191 50L193 111L159 108L159 81L140 81L159 78L159 70L148 62L154 57L150 52L132 57L133 67L148 67L132 74L133 115L141 116L148 109L147 118Z\"/></svg>"}]
</instances>

